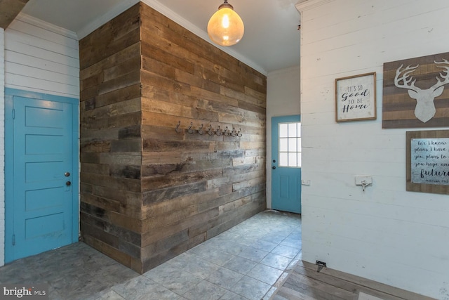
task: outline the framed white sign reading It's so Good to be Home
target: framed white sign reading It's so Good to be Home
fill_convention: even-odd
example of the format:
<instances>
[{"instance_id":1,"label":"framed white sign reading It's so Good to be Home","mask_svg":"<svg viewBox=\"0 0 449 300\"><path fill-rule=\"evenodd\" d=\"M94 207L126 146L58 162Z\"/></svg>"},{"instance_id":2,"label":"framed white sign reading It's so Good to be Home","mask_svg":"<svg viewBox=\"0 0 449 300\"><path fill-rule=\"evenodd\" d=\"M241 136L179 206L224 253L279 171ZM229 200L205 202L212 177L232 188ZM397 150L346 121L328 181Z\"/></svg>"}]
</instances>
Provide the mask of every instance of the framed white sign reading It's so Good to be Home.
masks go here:
<instances>
[{"instance_id":1,"label":"framed white sign reading It's so Good to be Home","mask_svg":"<svg viewBox=\"0 0 449 300\"><path fill-rule=\"evenodd\" d=\"M335 120L366 119L376 119L376 73L335 79Z\"/></svg>"}]
</instances>

